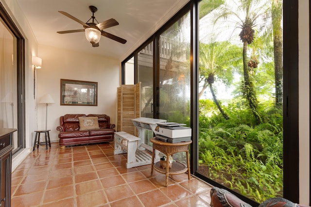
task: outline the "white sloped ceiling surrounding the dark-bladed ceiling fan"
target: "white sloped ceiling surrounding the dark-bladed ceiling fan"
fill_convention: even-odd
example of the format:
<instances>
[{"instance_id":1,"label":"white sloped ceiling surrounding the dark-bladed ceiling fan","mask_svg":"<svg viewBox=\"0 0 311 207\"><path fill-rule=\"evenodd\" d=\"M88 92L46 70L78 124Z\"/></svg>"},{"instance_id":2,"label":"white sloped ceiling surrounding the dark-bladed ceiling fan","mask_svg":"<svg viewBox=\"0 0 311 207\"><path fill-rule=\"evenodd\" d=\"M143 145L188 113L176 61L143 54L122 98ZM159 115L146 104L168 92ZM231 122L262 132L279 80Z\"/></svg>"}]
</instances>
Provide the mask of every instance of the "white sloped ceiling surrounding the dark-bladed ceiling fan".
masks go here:
<instances>
[{"instance_id":1,"label":"white sloped ceiling surrounding the dark-bladed ceiling fan","mask_svg":"<svg viewBox=\"0 0 311 207\"><path fill-rule=\"evenodd\" d=\"M39 45L66 48L125 59L189 0L17 0ZM83 26L58 11L88 21L88 6L96 6L98 22L114 18L119 25L104 31L123 39L121 44L102 36L98 48L87 42L84 32L59 34L57 31L78 30Z\"/></svg>"}]
</instances>

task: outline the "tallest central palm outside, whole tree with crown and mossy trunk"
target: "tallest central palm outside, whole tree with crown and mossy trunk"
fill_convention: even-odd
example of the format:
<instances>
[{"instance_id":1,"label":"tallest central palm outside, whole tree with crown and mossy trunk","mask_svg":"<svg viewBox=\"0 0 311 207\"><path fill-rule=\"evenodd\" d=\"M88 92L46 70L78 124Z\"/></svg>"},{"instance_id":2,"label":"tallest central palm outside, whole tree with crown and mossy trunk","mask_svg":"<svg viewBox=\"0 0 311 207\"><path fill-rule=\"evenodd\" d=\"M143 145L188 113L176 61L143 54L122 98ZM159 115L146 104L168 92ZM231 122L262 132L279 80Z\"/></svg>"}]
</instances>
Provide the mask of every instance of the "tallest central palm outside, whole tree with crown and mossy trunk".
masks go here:
<instances>
[{"instance_id":1,"label":"tallest central palm outside, whole tree with crown and mossy trunk","mask_svg":"<svg viewBox=\"0 0 311 207\"><path fill-rule=\"evenodd\" d=\"M267 10L266 3L260 0L230 0L225 2L218 12L215 12L214 24L219 20L231 21L236 29L241 29L239 34L243 43L243 96L248 101L248 105L253 112L256 122L261 123L261 118L258 112L258 100L252 76L250 75L248 57L248 45L254 40L255 28L258 27Z\"/></svg>"}]
</instances>

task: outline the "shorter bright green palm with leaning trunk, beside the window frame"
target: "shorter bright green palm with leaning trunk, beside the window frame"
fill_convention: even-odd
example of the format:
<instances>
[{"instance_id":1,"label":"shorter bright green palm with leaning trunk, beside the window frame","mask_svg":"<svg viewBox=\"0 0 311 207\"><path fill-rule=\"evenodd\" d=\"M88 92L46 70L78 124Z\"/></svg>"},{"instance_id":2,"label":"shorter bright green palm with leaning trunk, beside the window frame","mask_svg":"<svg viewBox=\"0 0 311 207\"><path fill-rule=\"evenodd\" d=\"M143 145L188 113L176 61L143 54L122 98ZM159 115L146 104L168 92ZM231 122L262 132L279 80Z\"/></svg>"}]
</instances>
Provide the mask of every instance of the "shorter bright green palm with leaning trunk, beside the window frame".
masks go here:
<instances>
[{"instance_id":1,"label":"shorter bright green palm with leaning trunk, beside the window frame","mask_svg":"<svg viewBox=\"0 0 311 207\"><path fill-rule=\"evenodd\" d=\"M229 85L233 80L233 67L232 65L238 65L241 63L240 48L231 45L228 41L215 42L213 40L208 44L200 44L200 80L202 89L199 92L199 98L203 95L206 88L209 86L210 92L213 96L213 101L216 104L218 110L222 113L225 119L229 119L229 116L222 109L216 94L213 89L213 83L215 77Z\"/></svg>"}]
</instances>

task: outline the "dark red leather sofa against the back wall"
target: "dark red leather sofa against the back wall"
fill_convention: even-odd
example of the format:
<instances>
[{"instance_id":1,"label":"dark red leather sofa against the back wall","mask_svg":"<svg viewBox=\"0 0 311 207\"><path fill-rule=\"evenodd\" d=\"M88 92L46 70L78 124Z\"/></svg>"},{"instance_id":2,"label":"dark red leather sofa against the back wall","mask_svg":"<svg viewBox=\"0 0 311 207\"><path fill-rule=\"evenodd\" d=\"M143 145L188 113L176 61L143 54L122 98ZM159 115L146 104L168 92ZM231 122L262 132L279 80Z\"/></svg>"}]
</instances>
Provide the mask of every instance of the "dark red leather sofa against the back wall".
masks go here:
<instances>
[{"instance_id":1,"label":"dark red leather sofa against the back wall","mask_svg":"<svg viewBox=\"0 0 311 207\"><path fill-rule=\"evenodd\" d=\"M96 118L97 127L91 129L80 128L82 119ZM87 117L87 118L85 118ZM98 118L97 118L98 117ZM102 143L113 141L115 124L110 123L110 117L106 114L65 114L59 118L59 145L64 148L69 145Z\"/></svg>"}]
</instances>

